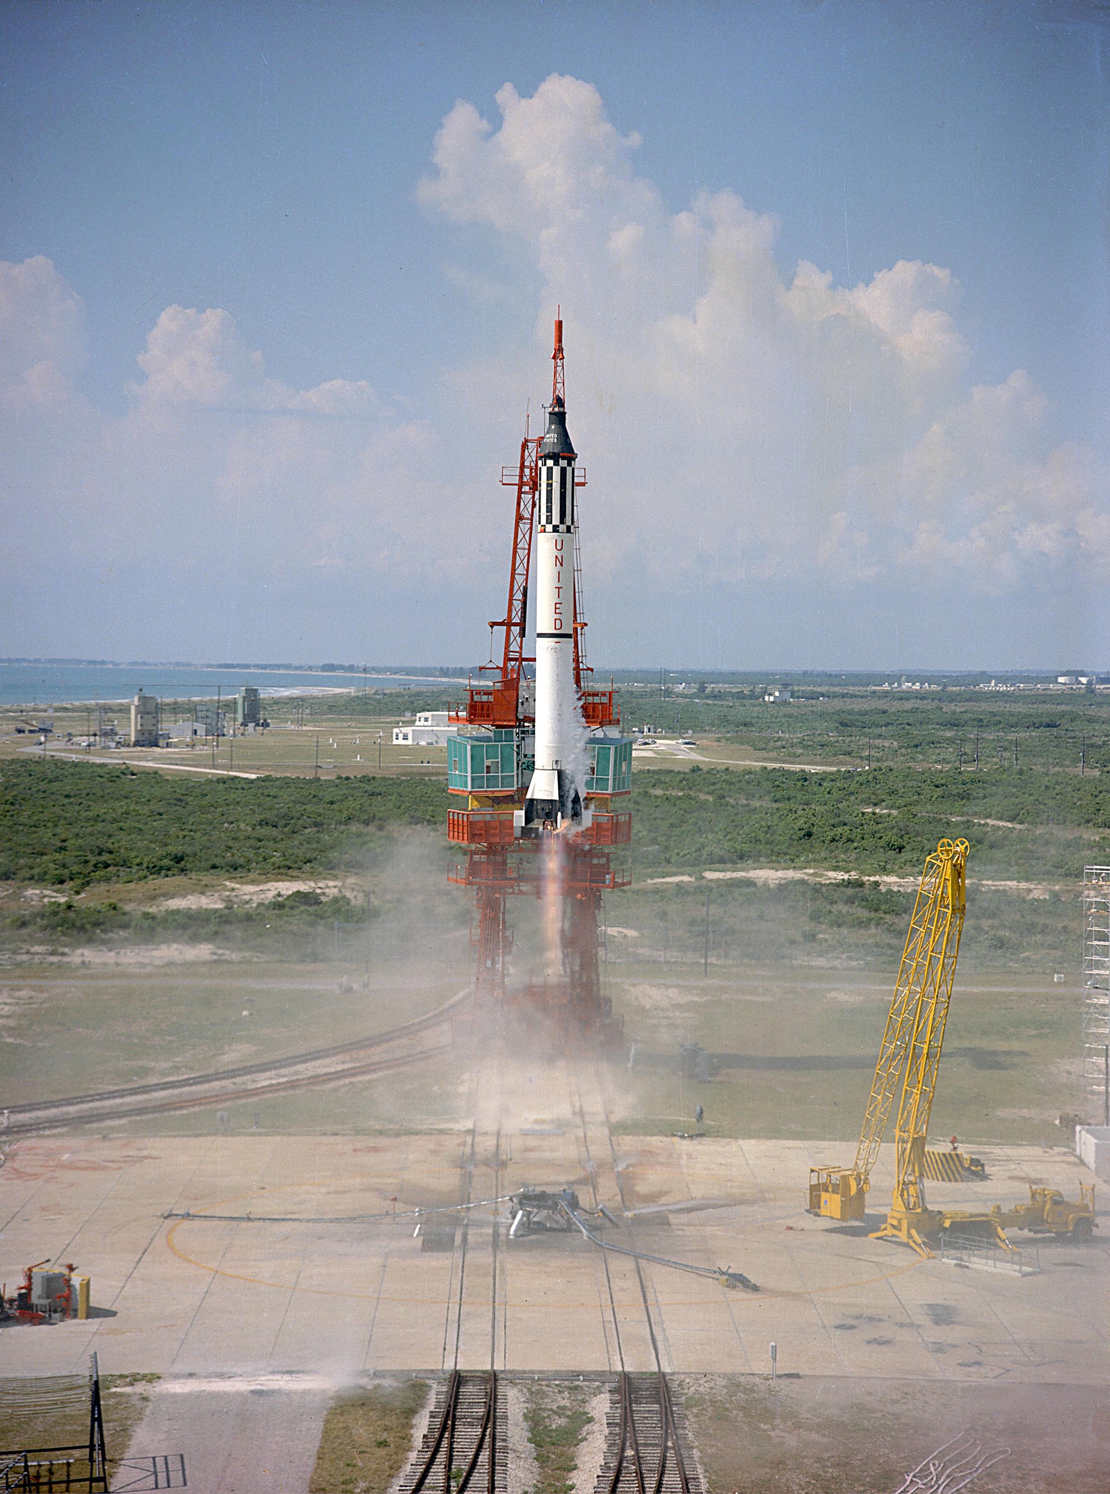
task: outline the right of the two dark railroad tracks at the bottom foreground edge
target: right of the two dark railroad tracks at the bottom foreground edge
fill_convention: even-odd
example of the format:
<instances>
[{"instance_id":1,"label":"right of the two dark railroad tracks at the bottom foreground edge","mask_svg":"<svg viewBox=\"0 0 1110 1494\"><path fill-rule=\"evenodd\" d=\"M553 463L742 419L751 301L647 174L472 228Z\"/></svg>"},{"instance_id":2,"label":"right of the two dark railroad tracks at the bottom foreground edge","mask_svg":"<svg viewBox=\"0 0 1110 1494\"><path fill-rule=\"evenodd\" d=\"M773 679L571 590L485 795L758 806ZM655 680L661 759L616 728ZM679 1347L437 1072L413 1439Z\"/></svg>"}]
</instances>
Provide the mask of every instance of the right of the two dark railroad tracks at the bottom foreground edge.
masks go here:
<instances>
[{"instance_id":1,"label":"right of the two dark railroad tracks at the bottom foreground edge","mask_svg":"<svg viewBox=\"0 0 1110 1494\"><path fill-rule=\"evenodd\" d=\"M620 1373L595 1494L702 1494L666 1374Z\"/></svg>"}]
</instances>

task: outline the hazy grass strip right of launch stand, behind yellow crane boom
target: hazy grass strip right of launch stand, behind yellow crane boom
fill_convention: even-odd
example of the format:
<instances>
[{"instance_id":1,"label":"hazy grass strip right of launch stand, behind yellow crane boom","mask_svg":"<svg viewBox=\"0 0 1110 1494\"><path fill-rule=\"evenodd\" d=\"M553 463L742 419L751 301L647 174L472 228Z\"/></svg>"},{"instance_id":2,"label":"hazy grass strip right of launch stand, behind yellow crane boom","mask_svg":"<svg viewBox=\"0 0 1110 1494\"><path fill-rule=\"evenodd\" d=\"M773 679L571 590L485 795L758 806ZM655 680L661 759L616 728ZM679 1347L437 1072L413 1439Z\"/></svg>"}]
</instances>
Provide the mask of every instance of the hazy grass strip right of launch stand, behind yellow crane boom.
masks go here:
<instances>
[{"instance_id":1,"label":"hazy grass strip right of launch stand, behind yellow crane boom","mask_svg":"<svg viewBox=\"0 0 1110 1494\"><path fill-rule=\"evenodd\" d=\"M895 968L765 965L610 968L616 1010L636 1043L623 1128L714 1135L859 1135ZM1074 985L1049 977L958 977L934 1109L938 1135L974 1144L1067 1144L1058 1116L1076 1103ZM699 1044L683 1073L680 1049ZM701 1077L698 1077L701 1074Z\"/></svg>"}]
</instances>

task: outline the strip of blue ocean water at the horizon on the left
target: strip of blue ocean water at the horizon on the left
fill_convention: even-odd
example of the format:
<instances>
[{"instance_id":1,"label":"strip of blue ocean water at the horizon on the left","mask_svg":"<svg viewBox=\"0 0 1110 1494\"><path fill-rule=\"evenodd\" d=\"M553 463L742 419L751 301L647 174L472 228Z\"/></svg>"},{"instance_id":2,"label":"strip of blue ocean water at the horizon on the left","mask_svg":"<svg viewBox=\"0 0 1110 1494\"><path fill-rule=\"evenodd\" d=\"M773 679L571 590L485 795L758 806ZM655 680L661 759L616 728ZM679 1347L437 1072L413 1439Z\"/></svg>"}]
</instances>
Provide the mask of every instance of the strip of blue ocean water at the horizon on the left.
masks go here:
<instances>
[{"instance_id":1,"label":"strip of blue ocean water at the horizon on the left","mask_svg":"<svg viewBox=\"0 0 1110 1494\"><path fill-rule=\"evenodd\" d=\"M402 689L420 684L460 684L438 675L368 674L366 686ZM217 690L235 695L254 684L263 695L306 695L326 690L362 690L360 674L320 671L214 669L173 663L4 663L0 662L1 705L66 705L72 701L127 701L139 690L163 699L209 699Z\"/></svg>"}]
</instances>

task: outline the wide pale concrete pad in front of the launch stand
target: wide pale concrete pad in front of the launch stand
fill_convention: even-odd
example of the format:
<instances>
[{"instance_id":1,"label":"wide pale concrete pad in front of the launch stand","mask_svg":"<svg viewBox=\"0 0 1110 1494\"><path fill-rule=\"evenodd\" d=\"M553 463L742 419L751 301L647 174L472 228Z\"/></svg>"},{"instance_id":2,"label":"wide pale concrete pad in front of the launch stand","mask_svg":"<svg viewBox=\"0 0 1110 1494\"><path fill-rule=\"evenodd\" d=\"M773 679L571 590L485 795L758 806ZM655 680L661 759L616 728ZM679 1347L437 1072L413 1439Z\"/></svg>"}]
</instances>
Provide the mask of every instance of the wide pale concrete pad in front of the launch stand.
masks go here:
<instances>
[{"instance_id":1,"label":"wide pale concrete pad in front of the launch stand","mask_svg":"<svg viewBox=\"0 0 1110 1494\"><path fill-rule=\"evenodd\" d=\"M644 1264L665 1369L765 1373L775 1340L780 1374L1106 1383L1106 1224L1089 1245L1017 1237L1040 1267L1022 1277L922 1261L804 1212L810 1164L835 1161L831 1150L610 1137L589 1107L376 1138L22 1141L0 1170L0 1274L10 1283L28 1261L72 1259L93 1277L99 1315L0 1331L0 1374L70 1371L96 1349L106 1373L311 1371L339 1383L450 1367L456 1339L462 1367L489 1367L492 1336L508 1370L613 1370L621 1354L629 1369L653 1367L627 1256L577 1233L509 1240L506 1203L408 1213L533 1183L630 1212L607 1231L620 1245L759 1283L726 1291ZM929 1203L1010 1203L1028 1182L1077 1197L1088 1179L1062 1149L990 1147L985 1161L986 1182L931 1185ZM884 1147L875 1224L890 1179ZM163 1218L185 1210L254 1218ZM365 1215L384 1218L353 1218Z\"/></svg>"}]
</instances>

